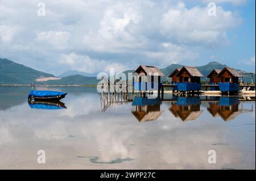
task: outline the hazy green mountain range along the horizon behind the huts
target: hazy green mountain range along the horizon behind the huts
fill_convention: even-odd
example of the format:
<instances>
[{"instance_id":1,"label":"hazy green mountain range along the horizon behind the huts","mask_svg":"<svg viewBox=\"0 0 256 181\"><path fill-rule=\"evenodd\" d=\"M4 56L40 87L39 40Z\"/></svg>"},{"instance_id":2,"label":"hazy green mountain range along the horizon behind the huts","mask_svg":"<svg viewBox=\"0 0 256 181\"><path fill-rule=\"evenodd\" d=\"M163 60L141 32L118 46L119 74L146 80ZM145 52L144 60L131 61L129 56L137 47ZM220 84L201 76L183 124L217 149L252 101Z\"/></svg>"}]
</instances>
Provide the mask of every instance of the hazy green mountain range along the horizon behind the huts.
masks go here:
<instances>
[{"instance_id":1,"label":"hazy green mountain range along the horizon behind the huts","mask_svg":"<svg viewBox=\"0 0 256 181\"><path fill-rule=\"evenodd\" d=\"M201 71L201 73L206 76L212 71L212 69L223 69L227 65L220 64L218 62L209 62L207 65L197 66L196 68ZM182 68L183 65L171 64L166 68L160 69L167 77L174 71L175 68ZM126 75L134 70L123 71ZM238 70L241 71L241 70ZM69 70L65 73L59 75L61 79L49 80L46 82L36 82L35 80L40 77L51 77L54 78L55 75L44 73L43 71L38 71L27 66L16 64L13 61L7 60L6 58L0 58L0 84L49 84L49 85L93 85L97 84L99 80L96 79L97 73L84 73L76 70ZM163 78L166 79L166 78ZM205 78L202 78L204 80ZM255 82L255 74L253 75ZM250 75L244 75L243 81L250 82Z\"/></svg>"}]
</instances>

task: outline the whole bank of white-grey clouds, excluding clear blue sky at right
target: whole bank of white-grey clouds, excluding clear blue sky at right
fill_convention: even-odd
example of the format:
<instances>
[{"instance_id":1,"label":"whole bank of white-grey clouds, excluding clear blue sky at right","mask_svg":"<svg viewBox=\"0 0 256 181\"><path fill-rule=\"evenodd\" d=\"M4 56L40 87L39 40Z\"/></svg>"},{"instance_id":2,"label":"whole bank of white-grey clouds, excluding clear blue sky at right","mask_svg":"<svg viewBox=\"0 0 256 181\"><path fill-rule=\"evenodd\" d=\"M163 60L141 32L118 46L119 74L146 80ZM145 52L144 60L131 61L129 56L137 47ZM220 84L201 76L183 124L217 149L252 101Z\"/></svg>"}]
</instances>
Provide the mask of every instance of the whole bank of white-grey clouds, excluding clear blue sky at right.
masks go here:
<instances>
[{"instance_id":1,"label":"whole bank of white-grey clouds, excluding clear blue sky at right","mask_svg":"<svg viewBox=\"0 0 256 181\"><path fill-rule=\"evenodd\" d=\"M216 17L209 18L205 15L207 5L187 9L185 3L176 1L45 3L46 16L42 17L36 14L36 2L1 1L0 52L20 64L53 74L68 69L93 72L109 66L122 70L139 64L166 66L195 61L200 52L195 44L226 44L229 28L239 22L222 7L218 7ZM71 67L68 62L56 67L63 55L70 59L72 52L84 60L77 58Z\"/></svg>"}]
</instances>

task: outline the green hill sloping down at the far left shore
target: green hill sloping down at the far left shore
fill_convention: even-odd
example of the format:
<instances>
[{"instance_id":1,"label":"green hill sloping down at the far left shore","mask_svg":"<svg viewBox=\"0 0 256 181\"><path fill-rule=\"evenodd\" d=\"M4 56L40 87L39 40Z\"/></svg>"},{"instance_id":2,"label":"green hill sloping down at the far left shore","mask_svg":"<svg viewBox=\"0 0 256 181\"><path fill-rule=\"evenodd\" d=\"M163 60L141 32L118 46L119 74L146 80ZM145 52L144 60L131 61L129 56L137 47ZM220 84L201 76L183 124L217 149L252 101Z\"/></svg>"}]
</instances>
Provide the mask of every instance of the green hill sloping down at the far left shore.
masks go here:
<instances>
[{"instance_id":1,"label":"green hill sloping down at the far left shore","mask_svg":"<svg viewBox=\"0 0 256 181\"><path fill-rule=\"evenodd\" d=\"M28 84L40 76L54 77L52 74L16 64L6 58L0 58L0 83L2 84Z\"/></svg>"}]
</instances>

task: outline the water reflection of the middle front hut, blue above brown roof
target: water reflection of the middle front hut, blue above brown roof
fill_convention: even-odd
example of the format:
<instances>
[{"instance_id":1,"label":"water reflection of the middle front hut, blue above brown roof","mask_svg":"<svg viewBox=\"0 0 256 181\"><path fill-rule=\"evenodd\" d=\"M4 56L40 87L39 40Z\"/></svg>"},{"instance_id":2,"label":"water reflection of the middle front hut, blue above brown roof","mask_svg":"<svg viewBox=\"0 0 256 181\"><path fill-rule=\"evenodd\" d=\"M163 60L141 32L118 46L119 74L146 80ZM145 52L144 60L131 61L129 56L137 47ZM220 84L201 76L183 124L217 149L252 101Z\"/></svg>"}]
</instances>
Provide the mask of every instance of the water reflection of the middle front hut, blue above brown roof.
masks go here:
<instances>
[{"instance_id":1,"label":"water reflection of the middle front hut, blue above brown roof","mask_svg":"<svg viewBox=\"0 0 256 181\"><path fill-rule=\"evenodd\" d=\"M203 112L200 111L199 97L179 97L176 103L171 103L170 111L183 121L196 120Z\"/></svg>"}]
</instances>

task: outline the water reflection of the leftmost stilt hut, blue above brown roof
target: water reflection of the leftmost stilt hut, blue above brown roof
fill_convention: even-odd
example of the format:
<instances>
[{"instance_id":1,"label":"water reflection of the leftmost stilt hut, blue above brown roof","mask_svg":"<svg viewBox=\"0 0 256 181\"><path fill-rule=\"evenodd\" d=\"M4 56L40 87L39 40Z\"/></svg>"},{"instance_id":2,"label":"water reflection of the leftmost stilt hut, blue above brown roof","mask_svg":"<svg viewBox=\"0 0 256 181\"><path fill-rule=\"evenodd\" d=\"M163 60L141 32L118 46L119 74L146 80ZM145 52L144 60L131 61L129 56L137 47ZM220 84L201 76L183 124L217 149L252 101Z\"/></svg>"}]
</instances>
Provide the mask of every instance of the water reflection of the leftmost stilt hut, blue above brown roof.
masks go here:
<instances>
[{"instance_id":1,"label":"water reflection of the leftmost stilt hut, blue above brown roof","mask_svg":"<svg viewBox=\"0 0 256 181\"><path fill-rule=\"evenodd\" d=\"M133 113L139 122L156 120L162 115L160 102L160 98L148 99L135 97L132 103L133 110L131 113Z\"/></svg>"}]
</instances>

